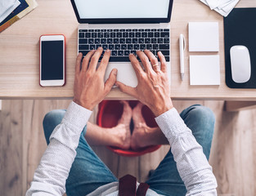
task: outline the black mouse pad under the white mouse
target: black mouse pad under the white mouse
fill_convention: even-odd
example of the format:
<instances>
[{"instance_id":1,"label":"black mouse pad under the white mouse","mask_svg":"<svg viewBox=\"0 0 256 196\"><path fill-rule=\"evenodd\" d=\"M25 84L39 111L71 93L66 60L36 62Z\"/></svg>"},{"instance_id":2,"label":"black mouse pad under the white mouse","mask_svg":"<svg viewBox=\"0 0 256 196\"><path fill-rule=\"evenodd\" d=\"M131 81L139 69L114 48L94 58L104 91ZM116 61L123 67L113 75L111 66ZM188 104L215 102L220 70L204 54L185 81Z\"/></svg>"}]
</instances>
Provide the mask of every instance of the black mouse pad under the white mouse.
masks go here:
<instances>
[{"instance_id":1,"label":"black mouse pad under the white mouse","mask_svg":"<svg viewBox=\"0 0 256 196\"><path fill-rule=\"evenodd\" d=\"M224 18L226 83L231 88L256 88L256 8L235 8ZM249 49L251 78L236 83L231 77L230 49L243 45Z\"/></svg>"}]
</instances>

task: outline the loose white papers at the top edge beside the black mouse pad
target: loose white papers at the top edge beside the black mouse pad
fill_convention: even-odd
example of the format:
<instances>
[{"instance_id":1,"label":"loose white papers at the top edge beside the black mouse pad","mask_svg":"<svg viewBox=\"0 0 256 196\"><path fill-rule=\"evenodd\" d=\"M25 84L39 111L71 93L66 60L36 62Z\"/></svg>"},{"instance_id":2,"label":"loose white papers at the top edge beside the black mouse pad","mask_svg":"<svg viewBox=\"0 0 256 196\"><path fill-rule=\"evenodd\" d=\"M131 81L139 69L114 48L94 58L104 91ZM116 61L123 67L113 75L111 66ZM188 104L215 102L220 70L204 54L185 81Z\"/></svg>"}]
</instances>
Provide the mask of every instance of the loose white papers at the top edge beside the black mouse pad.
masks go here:
<instances>
[{"instance_id":1,"label":"loose white papers at the top edge beside the black mouse pad","mask_svg":"<svg viewBox=\"0 0 256 196\"><path fill-rule=\"evenodd\" d=\"M237 2L240 0L200 0L204 4L208 5L211 10L217 11L222 16L227 16L234 7L236 7Z\"/></svg>"}]
</instances>

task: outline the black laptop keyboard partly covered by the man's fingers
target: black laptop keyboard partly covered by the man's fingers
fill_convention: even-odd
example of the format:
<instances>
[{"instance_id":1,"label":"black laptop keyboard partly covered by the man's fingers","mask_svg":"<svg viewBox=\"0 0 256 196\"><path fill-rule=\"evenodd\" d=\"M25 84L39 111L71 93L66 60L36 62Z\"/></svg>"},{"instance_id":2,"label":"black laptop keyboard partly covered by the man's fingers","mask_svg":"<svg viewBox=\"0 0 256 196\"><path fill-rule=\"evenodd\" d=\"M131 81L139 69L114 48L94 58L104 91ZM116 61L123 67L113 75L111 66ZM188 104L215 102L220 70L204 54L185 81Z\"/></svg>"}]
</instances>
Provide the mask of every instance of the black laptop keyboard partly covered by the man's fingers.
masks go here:
<instances>
[{"instance_id":1,"label":"black laptop keyboard partly covered by the man's fingers","mask_svg":"<svg viewBox=\"0 0 256 196\"><path fill-rule=\"evenodd\" d=\"M129 54L145 49L153 52L156 58L161 51L166 61L170 61L169 29L79 29L79 52L86 56L89 51L110 49L110 62L127 62ZM159 59L159 58L158 58ZM138 59L139 60L139 59Z\"/></svg>"}]
</instances>

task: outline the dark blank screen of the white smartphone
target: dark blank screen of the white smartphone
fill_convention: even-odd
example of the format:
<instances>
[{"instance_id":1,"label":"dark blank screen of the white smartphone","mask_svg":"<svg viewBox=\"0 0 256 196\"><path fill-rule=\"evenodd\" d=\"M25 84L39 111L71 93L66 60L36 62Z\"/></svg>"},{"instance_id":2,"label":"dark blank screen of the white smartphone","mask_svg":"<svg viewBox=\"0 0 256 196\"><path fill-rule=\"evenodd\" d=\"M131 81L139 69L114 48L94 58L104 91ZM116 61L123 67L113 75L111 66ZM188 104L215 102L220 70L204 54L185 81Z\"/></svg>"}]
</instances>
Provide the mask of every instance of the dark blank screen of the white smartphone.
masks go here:
<instances>
[{"instance_id":1,"label":"dark blank screen of the white smartphone","mask_svg":"<svg viewBox=\"0 0 256 196\"><path fill-rule=\"evenodd\" d=\"M63 80L63 41L43 41L42 80Z\"/></svg>"}]
</instances>

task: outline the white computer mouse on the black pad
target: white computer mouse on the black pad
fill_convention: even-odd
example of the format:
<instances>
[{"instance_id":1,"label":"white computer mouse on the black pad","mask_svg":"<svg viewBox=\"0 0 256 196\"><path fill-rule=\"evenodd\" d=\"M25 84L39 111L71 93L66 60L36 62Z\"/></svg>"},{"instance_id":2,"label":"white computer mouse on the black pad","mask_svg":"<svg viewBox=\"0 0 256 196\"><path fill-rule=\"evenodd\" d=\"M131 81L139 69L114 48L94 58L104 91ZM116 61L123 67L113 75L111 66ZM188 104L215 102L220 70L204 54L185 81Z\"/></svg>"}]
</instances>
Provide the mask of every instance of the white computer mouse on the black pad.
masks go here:
<instances>
[{"instance_id":1,"label":"white computer mouse on the black pad","mask_svg":"<svg viewBox=\"0 0 256 196\"><path fill-rule=\"evenodd\" d=\"M245 46L234 46L230 49L231 74L236 83L245 83L251 76L249 50Z\"/></svg>"}]
</instances>

